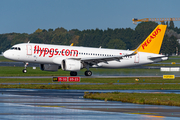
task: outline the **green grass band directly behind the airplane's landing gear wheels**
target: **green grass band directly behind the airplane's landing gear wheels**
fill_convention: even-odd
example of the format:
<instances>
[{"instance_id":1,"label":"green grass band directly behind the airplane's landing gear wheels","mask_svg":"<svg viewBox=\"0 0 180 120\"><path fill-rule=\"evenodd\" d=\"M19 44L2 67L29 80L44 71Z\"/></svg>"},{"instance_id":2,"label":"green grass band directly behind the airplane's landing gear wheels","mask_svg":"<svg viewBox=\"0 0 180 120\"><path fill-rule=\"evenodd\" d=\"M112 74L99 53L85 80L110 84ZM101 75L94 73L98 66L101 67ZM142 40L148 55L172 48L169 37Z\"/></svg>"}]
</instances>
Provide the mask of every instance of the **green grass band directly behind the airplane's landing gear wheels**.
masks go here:
<instances>
[{"instance_id":1,"label":"green grass band directly behind the airplane's landing gear wheels","mask_svg":"<svg viewBox=\"0 0 180 120\"><path fill-rule=\"evenodd\" d=\"M23 73L24 67L12 67L12 66L0 66L0 76L69 76L69 71L63 71L59 69L57 72L42 71L39 67L35 70L32 67L27 67L27 73ZM78 75L84 76L82 69L78 72ZM179 72L161 72L160 69L135 69L135 68L122 68L122 69L99 69L91 68L94 76L102 75L117 75L117 76L162 76L162 75L179 75Z\"/></svg>"}]
</instances>

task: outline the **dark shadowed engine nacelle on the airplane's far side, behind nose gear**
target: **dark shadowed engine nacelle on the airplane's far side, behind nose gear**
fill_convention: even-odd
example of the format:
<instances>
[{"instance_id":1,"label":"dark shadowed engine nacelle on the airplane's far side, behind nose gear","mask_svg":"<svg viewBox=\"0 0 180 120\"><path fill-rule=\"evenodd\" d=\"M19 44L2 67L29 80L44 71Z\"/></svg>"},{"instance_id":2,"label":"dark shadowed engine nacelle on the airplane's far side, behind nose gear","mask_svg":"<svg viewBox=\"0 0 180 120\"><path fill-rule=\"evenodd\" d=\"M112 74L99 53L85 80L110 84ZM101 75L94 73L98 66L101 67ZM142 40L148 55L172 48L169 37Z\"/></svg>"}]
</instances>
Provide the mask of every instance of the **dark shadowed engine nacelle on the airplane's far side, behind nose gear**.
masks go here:
<instances>
[{"instance_id":1,"label":"dark shadowed engine nacelle on the airplane's far side, behind nose gear","mask_svg":"<svg viewBox=\"0 0 180 120\"><path fill-rule=\"evenodd\" d=\"M40 68L43 71L58 71L59 65L55 65L55 64L40 64Z\"/></svg>"}]
</instances>

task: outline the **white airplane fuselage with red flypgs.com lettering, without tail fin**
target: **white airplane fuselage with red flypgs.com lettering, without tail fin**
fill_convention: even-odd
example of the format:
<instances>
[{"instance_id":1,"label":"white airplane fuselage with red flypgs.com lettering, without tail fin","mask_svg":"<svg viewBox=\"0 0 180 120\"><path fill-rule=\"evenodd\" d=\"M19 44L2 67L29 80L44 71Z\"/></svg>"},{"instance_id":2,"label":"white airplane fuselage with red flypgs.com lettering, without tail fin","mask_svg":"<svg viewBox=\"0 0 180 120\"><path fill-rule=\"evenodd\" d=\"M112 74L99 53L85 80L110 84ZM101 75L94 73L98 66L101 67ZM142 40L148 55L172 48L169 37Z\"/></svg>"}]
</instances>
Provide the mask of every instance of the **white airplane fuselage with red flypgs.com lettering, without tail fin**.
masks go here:
<instances>
[{"instance_id":1,"label":"white airplane fuselage with red flypgs.com lettering, without tail fin","mask_svg":"<svg viewBox=\"0 0 180 120\"><path fill-rule=\"evenodd\" d=\"M129 50L115 50L115 49L103 49L103 48L90 48L90 47L76 47L76 46L63 46L63 45L48 45L48 44L36 44L36 43L22 43L17 44L4 52L4 56L8 59L21 61L21 62L33 62L39 64L57 64L61 65L63 59L78 59L88 60L93 58L109 58L119 57L126 54L131 54L133 51ZM149 59L149 58L157 59ZM122 68L132 67L143 64L150 64L167 60L168 58L152 53L138 52L136 55L126 56L120 60L111 60L99 62L97 65L90 67L101 68Z\"/></svg>"}]
</instances>

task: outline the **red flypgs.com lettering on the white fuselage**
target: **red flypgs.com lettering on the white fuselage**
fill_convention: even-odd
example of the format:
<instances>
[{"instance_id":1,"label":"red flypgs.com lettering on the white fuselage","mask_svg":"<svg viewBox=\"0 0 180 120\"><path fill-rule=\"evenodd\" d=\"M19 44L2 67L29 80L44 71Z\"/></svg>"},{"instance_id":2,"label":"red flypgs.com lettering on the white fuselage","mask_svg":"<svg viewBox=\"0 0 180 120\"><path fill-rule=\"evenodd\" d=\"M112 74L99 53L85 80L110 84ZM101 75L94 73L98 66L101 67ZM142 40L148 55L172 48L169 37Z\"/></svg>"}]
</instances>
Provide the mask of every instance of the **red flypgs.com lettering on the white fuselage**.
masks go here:
<instances>
[{"instance_id":1,"label":"red flypgs.com lettering on the white fuselage","mask_svg":"<svg viewBox=\"0 0 180 120\"><path fill-rule=\"evenodd\" d=\"M46 55L49 55L48 57L53 57L54 55L58 56L78 56L78 50L69 50L69 49L62 49L59 50L58 48L41 48L39 45L34 46L34 54L39 54L40 56L45 57Z\"/></svg>"}]
</instances>

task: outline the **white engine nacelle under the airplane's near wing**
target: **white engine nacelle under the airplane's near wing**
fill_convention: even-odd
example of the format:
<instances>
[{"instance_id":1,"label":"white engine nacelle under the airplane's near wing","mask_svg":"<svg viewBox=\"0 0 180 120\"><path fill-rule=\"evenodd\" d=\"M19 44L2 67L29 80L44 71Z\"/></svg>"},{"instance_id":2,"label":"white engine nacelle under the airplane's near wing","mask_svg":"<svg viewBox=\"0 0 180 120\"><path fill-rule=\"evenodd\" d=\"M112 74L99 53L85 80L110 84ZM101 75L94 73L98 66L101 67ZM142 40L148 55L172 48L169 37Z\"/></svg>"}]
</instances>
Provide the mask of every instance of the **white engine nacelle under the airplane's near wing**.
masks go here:
<instances>
[{"instance_id":1,"label":"white engine nacelle under the airplane's near wing","mask_svg":"<svg viewBox=\"0 0 180 120\"><path fill-rule=\"evenodd\" d=\"M83 65L80 60L65 59L62 60L61 67L65 71L79 71Z\"/></svg>"}]
</instances>

